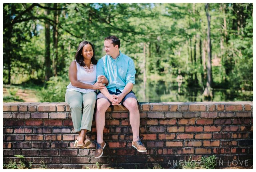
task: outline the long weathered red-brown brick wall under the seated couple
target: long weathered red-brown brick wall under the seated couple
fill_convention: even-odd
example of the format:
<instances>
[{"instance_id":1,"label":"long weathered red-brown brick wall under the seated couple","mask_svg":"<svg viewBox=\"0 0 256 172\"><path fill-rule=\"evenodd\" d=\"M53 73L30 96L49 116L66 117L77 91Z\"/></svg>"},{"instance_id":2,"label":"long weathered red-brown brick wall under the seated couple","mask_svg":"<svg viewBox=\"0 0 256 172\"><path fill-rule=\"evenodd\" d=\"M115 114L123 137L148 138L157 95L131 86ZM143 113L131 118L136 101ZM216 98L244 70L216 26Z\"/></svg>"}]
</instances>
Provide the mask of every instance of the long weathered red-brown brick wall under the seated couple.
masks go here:
<instances>
[{"instance_id":1,"label":"long weathered red-brown brick wall under the seated couple","mask_svg":"<svg viewBox=\"0 0 256 172\"><path fill-rule=\"evenodd\" d=\"M100 159L94 158L96 128L93 120L91 149L74 148L77 136L65 103L4 103L3 163L26 161L47 168L174 168L179 160L216 155L217 166L252 165L253 102L143 103L140 134L147 152L131 147L129 112L114 106L106 112ZM247 162L247 164L246 164Z\"/></svg>"}]
</instances>

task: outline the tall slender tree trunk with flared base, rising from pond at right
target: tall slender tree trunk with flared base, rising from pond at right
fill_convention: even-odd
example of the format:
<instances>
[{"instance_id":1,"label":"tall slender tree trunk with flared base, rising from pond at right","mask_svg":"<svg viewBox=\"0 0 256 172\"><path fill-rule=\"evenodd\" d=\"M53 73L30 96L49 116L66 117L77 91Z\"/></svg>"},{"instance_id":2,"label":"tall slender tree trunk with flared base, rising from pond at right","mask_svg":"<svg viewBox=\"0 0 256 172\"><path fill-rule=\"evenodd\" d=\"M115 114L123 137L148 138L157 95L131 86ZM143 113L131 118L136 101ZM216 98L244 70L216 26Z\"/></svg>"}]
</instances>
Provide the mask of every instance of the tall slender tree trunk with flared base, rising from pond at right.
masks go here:
<instances>
[{"instance_id":1,"label":"tall slender tree trunk with flared base, rising from pond at right","mask_svg":"<svg viewBox=\"0 0 256 172\"><path fill-rule=\"evenodd\" d=\"M206 11L206 17L207 17L207 23L208 23L208 29L207 29L207 53L208 53L208 61L207 61L207 83L206 88L204 90L203 95L205 97L212 97L212 48L211 48L211 28L210 28L210 15L209 15L209 3L206 3L205 5L205 11Z\"/></svg>"}]
</instances>

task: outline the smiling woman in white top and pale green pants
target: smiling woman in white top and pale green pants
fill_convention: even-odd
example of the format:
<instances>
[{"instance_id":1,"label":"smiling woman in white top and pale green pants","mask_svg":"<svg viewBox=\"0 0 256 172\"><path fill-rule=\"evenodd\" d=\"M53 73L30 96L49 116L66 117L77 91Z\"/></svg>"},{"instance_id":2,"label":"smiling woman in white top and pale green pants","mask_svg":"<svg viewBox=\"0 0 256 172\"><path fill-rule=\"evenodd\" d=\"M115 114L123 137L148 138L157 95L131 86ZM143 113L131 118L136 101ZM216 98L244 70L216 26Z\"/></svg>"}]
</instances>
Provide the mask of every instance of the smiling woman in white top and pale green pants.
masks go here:
<instances>
[{"instance_id":1,"label":"smiling woman in white top and pale green pants","mask_svg":"<svg viewBox=\"0 0 256 172\"><path fill-rule=\"evenodd\" d=\"M108 83L104 76L99 76L98 80L101 82L96 82L96 64L93 44L88 41L81 42L75 60L69 66L70 84L65 95L74 131L79 133L74 146L79 148L90 148L91 141L85 139L85 133L91 130L96 90L104 88L104 83Z\"/></svg>"}]
</instances>

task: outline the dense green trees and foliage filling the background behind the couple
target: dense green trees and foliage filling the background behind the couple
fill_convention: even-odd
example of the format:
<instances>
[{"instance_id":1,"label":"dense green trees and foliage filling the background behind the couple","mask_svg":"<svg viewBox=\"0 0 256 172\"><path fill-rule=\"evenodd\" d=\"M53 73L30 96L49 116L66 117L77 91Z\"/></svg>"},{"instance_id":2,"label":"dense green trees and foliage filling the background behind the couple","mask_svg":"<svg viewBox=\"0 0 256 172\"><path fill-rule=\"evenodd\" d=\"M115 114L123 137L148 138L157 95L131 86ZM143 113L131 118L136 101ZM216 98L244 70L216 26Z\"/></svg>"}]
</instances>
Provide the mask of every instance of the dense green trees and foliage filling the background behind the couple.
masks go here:
<instances>
[{"instance_id":1,"label":"dense green trees and foliage filling the background behind the couple","mask_svg":"<svg viewBox=\"0 0 256 172\"><path fill-rule=\"evenodd\" d=\"M253 90L253 4L209 6L213 88ZM206 87L203 3L4 3L3 82L44 83L41 101L64 101L78 44L92 42L99 59L109 35L119 37L120 50L134 59L137 81L176 81L180 70L183 87Z\"/></svg>"}]
</instances>

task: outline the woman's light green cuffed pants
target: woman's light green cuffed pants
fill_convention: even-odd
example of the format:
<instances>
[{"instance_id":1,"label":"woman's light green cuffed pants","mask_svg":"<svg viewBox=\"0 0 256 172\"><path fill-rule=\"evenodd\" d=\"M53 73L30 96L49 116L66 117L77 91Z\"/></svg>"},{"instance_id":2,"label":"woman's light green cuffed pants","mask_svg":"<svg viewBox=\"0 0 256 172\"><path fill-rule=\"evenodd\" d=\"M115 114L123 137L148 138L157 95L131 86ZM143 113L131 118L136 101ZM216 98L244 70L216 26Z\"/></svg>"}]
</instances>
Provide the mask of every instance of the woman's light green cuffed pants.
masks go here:
<instances>
[{"instance_id":1,"label":"woman's light green cuffed pants","mask_svg":"<svg viewBox=\"0 0 256 172\"><path fill-rule=\"evenodd\" d=\"M65 95L65 101L69 105L74 131L81 129L91 131L92 117L96 102L96 93L81 93L78 91L68 91ZM82 111L82 103L84 105Z\"/></svg>"}]
</instances>

